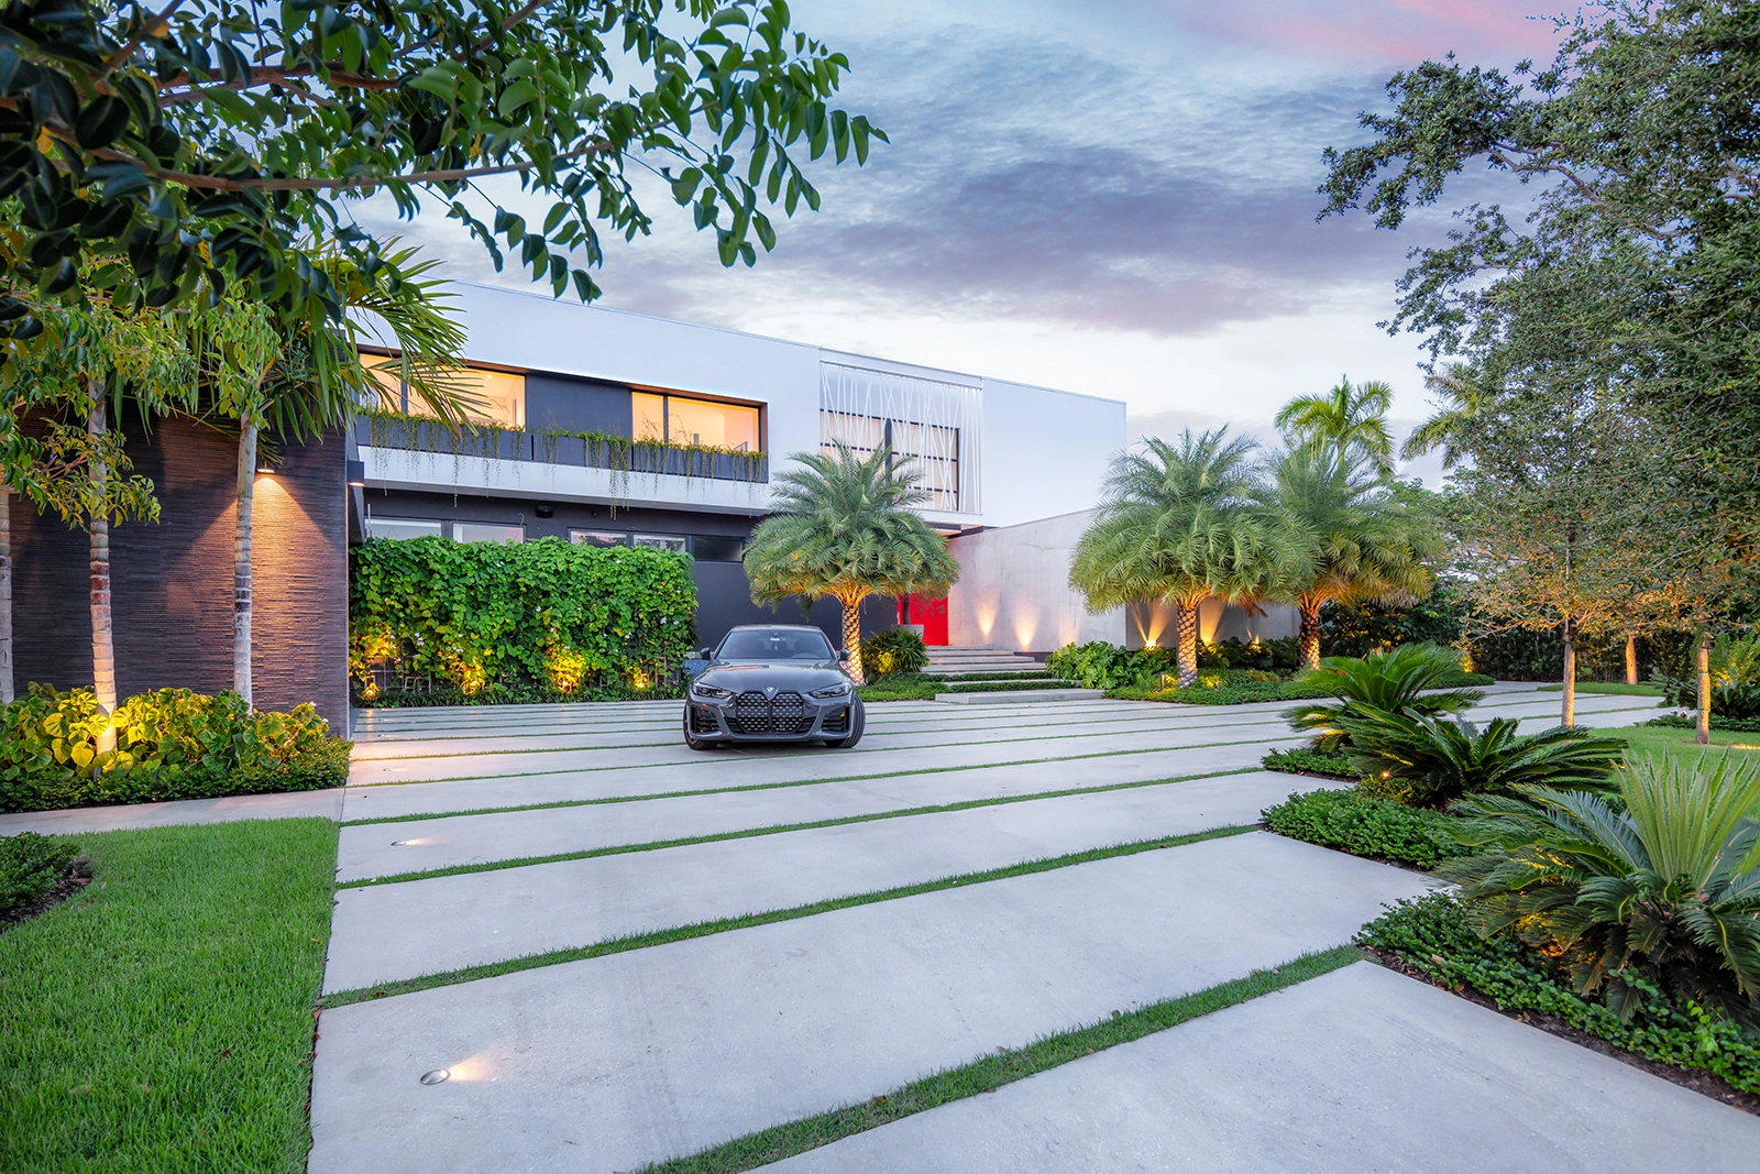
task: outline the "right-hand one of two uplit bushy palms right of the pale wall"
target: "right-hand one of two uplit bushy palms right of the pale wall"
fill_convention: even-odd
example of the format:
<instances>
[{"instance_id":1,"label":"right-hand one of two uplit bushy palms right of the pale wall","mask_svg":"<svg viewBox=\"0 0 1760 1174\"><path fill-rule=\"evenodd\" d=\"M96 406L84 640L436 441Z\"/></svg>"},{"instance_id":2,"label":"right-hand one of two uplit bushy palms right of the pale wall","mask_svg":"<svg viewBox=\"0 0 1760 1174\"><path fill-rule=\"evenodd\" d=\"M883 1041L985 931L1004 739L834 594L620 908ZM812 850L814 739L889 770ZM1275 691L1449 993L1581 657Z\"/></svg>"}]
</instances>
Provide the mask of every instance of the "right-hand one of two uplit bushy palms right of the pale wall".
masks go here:
<instances>
[{"instance_id":1,"label":"right-hand one of two uplit bushy palms right of the pale wall","mask_svg":"<svg viewBox=\"0 0 1760 1174\"><path fill-rule=\"evenodd\" d=\"M1331 444L1301 445L1278 461L1271 507L1278 542L1301 558L1283 598L1301 613L1304 669L1320 667L1324 605L1429 591L1426 561L1441 554L1441 540L1373 466Z\"/></svg>"}]
</instances>

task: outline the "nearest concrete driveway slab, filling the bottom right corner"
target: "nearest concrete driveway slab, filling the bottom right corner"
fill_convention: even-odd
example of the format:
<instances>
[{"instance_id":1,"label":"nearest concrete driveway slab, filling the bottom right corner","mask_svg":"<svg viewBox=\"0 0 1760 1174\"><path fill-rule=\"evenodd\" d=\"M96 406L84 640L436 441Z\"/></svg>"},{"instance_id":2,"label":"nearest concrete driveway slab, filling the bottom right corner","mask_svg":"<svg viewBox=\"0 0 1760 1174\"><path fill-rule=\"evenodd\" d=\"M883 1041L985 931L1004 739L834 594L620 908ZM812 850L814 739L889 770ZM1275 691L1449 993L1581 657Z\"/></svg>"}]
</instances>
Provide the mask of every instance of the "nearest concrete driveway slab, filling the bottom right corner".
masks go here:
<instances>
[{"instance_id":1,"label":"nearest concrete driveway slab, filling the bottom right corner","mask_svg":"<svg viewBox=\"0 0 1760 1174\"><path fill-rule=\"evenodd\" d=\"M1359 963L773 1174L1746 1174L1760 1118Z\"/></svg>"}]
</instances>

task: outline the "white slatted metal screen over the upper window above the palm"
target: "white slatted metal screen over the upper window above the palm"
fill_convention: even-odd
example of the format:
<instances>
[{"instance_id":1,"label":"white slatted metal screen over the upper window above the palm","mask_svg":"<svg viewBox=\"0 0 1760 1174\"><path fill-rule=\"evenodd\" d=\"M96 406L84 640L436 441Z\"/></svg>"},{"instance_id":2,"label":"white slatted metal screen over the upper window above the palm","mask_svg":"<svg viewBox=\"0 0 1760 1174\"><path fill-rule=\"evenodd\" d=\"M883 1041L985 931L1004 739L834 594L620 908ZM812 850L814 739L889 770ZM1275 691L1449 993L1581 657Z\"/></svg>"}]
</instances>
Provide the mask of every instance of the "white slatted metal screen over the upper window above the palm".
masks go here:
<instances>
[{"instance_id":1,"label":"white slatted metal screen over the upper window above the palm","mask_svg":"<svg viewBox=\"0 0 1760 1174\"><path fill-rule=\"evenodd\" d=\"M884 444L908 459L933 510L977 514L984 451L984 393L841 363L818 364L818 442L859 456Z\"/></svg>"}]
</instances>

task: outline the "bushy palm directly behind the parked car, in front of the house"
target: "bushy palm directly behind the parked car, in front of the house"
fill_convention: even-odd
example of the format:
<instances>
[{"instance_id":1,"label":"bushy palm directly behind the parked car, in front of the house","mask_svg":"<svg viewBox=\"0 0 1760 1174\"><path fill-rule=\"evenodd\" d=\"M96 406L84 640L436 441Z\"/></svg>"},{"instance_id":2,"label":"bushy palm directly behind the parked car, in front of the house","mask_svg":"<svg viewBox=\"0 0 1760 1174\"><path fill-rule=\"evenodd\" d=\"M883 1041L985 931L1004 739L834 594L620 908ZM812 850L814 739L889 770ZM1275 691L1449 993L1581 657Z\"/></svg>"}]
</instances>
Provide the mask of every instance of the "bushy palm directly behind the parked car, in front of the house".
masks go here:
<instances>
[{"instance_id":1,"label":"bushy palm directly behind the parked car, in front of the house","mask_svg":"<svg viewBox=\"0 0 1760 1174\"><path fill-rule=\"evenodd\" d=\"M910 509L928 495L915 470L894 466L891 449L862 459L834 444L831 452L797 452L790 459L801 468L776 479L776 512L759 523L746 546L752 600L829 595L843 604L850 678L862 685L862 600L945 595L959 579L959 563L947 540Z\"/></svg>"}]
</instances>

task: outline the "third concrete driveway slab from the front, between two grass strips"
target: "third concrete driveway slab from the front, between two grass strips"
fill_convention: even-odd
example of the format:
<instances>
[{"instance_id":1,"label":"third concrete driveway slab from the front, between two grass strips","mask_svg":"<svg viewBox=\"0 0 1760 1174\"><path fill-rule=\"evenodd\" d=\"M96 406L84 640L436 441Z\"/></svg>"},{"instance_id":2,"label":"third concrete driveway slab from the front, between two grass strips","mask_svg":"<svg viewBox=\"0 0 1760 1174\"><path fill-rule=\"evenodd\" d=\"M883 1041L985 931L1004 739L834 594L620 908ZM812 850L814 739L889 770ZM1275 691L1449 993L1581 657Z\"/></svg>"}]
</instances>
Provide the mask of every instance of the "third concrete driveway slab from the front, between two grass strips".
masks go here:
<instances>
[{"instance_id":1,"label":"third concrete driveway slab from the front, between two grass strips","mask_svg":"<svg viewBox=\"0 0 1760 1174\"><path fill-rule=\"evenodd\" d=\"M1255 824L1290 794L1290 780L1234 774L343 889L324 991Z\"/></svg>"}]
</instances>

